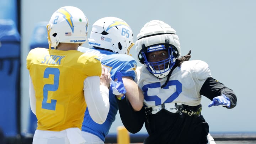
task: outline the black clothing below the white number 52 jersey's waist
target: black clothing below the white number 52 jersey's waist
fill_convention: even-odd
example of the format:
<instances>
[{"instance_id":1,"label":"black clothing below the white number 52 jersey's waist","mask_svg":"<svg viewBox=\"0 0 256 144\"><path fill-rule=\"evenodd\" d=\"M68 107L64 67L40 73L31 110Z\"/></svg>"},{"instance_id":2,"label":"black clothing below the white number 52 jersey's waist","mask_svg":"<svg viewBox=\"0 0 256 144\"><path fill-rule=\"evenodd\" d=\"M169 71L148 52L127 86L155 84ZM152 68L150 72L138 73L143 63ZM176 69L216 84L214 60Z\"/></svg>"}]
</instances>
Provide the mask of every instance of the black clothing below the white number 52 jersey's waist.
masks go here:
<instances>
[{"instance_id":1,"label":"black clothing below the white number 52 jersey's waist","mask_svg":"<svg viewBox=\"0 0 256 144\"><path fill-rule=\"evenodd\" d=\"M161 110L145 122L149 137L144 144L207 144L208 123L200 114L188 116Z\"/></svg>"}]
</instances>

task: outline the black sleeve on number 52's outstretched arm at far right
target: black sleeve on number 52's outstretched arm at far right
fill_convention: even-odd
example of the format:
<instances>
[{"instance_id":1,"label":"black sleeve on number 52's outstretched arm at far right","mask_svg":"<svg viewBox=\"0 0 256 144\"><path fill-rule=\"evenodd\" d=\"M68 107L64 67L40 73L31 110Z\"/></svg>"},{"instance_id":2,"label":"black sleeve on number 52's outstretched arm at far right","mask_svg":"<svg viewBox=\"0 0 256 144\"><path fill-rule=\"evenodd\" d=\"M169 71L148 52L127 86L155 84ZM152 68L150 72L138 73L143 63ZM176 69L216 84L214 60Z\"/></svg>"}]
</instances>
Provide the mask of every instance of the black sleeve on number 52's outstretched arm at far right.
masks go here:
<instances>
[{"instance_id":1,"label":"black sleeve on number 52's outstretched arm at far right","mask_svg":"<svg viewBox=\"0 0 256 144\"><path fill-rule=\"evenodd\" d=\"M230 99L230 104L231 104L230 108L234 108L236 106L236 101L237 101L235 93L233 92L233 90L229 89L218 80L215 80L213 78L208 78L204 82L200 90L200 95L204 95L210 100L213 100L214 97L220 96L222 94L225 94L225 96L227 96Z\"/></svg>"}]
</instances>

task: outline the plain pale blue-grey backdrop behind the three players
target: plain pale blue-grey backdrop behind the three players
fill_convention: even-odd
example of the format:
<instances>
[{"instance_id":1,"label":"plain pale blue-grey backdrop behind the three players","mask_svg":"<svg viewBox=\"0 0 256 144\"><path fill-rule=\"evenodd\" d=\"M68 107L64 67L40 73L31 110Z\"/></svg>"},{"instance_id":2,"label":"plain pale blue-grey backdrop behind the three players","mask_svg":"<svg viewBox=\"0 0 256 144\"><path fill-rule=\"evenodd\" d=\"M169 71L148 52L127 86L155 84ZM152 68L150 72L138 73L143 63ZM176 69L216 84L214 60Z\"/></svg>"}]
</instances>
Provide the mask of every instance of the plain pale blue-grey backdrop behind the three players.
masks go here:
<instances>
[{"instance_id":1,"label":"plain pale blue-grey backdrop behind the three players","mask_svg":"<svg viewBox=\"0 0 256 144\"><path fill-rule=\"evenodd\" d=\"M256 131L255 54L256 1L254 0L23 0L22 4L22 130L27 127L28 71L26 55L36 23L49 21L62 6L76 6L92 24L102 17L114 16L126 21L134 39L150 20L162 20L173 27L180 38L181 55L192 50L191 60L208 63L213 78L231 88L238 97L233 109L208 108L210 100L202 98L202 114L210 132ZM88 47L88 44L84 44ZM135 47L131 50L136 58ZM141 65L138 62L138 65ZM122 123L117 115L110 133ZM143 128L139 133L145 133Z\"/></svg>"}]
</instances>

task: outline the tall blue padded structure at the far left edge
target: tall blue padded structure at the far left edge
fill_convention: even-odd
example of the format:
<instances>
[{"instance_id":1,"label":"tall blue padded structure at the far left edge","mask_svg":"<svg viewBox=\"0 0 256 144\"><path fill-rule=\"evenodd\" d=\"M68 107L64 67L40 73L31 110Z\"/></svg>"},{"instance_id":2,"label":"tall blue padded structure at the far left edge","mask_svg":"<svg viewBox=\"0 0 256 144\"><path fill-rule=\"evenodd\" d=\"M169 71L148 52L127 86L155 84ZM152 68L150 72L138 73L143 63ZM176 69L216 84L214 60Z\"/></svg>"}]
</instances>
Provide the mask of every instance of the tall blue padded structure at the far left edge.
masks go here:
<instances>
[{"instance_id":1,"label":"tall blue padded structure at the far left edge","mask_svg":"<svg viewBox=\"0 0 256 144\"><path fill-rule=\"evenodd\" d=\"M0 128L5 137L20 132L20 54L15 22L0 19Z\"/></svg>"}]
</instances>

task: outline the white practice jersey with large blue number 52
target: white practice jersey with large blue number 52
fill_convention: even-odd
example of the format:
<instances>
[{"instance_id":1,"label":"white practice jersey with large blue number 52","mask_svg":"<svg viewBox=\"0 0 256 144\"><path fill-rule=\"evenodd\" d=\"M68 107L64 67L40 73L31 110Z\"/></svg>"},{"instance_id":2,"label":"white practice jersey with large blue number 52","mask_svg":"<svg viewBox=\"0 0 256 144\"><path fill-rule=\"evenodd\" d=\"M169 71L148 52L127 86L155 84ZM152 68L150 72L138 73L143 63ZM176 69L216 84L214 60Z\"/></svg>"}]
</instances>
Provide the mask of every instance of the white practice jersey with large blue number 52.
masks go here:
<instances>
[{"instance_id":1,"label":"white practice jersey with large blue number 52","mask_svg":"<svg viewBox=\"0 0 256 144\"><path fill-rule=\"evenodd\" d=\"M209 66L201 60L191 60L176 67L169 78L159 79L153 76L145 66L137 68L138 86L144 92L144 105L153 107L162 103L182 103L188 106L201 104L199 94L202 85L207 78L211 77Z\"/></svg>"}]
</instances>

